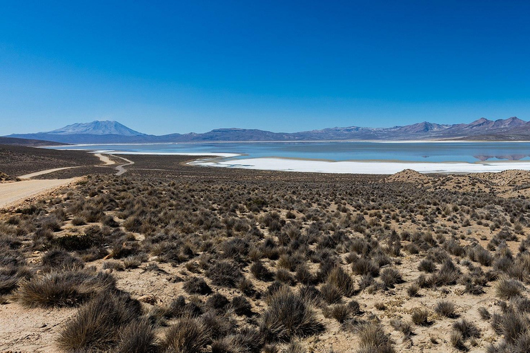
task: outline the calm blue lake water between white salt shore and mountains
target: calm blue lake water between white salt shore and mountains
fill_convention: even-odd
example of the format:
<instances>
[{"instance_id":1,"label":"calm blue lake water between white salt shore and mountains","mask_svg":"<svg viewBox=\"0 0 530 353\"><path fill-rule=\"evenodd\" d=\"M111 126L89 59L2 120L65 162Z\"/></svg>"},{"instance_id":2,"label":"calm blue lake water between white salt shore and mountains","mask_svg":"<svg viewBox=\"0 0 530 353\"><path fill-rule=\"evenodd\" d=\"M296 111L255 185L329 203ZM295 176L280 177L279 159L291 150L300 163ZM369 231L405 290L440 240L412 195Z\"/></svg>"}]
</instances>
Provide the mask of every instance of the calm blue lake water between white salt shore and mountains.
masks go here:
<instances>
[{"instance_id":1,"label":"calm blue lake water between white salt shore and mountains","mask_svg":"<svg viewBox=\"0 0 530 353\"><path fill-rule=\"evenodd\" d=\"M141 153L240 154L229 160L280 157L325 161L467 162L529 161L527 142L274 142L75 145L67 149Z\"/></svg>"}]
</instances>

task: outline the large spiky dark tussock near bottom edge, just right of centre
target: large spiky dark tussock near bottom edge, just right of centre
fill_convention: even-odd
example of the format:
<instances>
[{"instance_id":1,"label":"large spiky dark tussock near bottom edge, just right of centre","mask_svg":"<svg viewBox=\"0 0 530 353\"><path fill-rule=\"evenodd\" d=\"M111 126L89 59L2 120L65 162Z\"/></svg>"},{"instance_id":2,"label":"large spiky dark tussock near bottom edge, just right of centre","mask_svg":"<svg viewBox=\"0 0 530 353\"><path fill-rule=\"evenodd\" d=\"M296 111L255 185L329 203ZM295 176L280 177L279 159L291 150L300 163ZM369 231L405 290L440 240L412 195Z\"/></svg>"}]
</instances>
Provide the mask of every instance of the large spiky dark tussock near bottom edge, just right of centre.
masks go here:
<instances>
[{"instance_id":1,"label":"large spiky dark tussock near bottom edge, just right of centre","mask_svg":"<svg viewBox=\"0 0 530 353\"><path fill-rule=\"evenodd\" d=\"M310 303L285 287L271 296L259 323L266 341L289 341L294 337L311 336L323 329Z\"/></svg>"}]
</instances>

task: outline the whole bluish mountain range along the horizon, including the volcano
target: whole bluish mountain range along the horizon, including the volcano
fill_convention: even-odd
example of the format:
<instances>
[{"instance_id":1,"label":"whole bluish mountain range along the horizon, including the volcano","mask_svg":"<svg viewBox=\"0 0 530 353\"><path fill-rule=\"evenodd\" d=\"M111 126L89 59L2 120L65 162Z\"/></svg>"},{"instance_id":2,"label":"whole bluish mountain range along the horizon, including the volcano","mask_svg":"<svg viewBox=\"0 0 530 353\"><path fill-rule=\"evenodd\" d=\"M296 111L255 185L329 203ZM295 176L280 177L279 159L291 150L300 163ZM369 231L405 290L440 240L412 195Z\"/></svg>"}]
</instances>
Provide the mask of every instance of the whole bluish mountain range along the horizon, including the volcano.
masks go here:
<instances>
[{"instance_id":1,"label":"whole bluish mountain range along the horizon, including the volcano","mask_svg":"<svg viewBox=\"0 0 530 353\"><path fill-rule=\"evenodd\" d=\"M37 139L60 143L170 143L236 141L422 141L478 140L530 141L530 122L517 117L471 123L438 124L424 121L393 128L326 128L302 132L271 132L255 129L215 129L197 134L150 135L132 130L117 121L75 123L49 132L11 134L8 137Z\"/></svg>"}]
</instances>

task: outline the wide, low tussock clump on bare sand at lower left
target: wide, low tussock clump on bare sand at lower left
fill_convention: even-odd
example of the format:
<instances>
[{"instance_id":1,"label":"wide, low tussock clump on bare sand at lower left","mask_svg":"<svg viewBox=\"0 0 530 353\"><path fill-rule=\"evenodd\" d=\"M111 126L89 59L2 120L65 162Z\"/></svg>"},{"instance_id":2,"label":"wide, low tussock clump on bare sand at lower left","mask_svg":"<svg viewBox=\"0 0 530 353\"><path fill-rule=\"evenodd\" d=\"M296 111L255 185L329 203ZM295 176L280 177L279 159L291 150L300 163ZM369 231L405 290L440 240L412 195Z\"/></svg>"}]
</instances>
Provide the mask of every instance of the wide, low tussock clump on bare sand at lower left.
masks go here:
<instances>
[{"instance_id":1,"label":"wide, low tussock clump on bare sand at lower left","mask_svg":"<svg viewBox=\"0 0 530 353\"><path fill-rule=\"evenodd\" d=\"M20 283L19 302L26 307L68 307L115 289L110 274L86 271L52 272Z\"/></svg>"}]
</instances>

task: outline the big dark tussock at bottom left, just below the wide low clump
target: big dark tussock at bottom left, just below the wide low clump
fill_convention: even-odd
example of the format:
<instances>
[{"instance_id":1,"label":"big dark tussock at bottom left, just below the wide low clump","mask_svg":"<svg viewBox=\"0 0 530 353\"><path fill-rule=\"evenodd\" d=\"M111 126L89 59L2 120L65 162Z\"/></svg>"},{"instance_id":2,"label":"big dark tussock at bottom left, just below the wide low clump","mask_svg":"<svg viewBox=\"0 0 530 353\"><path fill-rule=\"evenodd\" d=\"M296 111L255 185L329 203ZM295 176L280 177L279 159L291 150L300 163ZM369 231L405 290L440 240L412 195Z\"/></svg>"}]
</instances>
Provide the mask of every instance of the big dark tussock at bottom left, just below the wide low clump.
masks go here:
<instances>
[{"instance_id":1,"label":"big dark tussock at bottom left, just below the wide low clump","mask_svg":"<svg viewBox=\"0 0 530 353\"><path fill-rule=\"evenodd\" d=\"M148 330L146 324L136 323L140 314L140 303L129 296L102 293L79 308L77 315L61 328L57 344L65 352L100 352L118 345L120 336L145 343L153 336L144 331ZM126 330L128 325L137 327Z\"/></svg>"}]
</instances>

